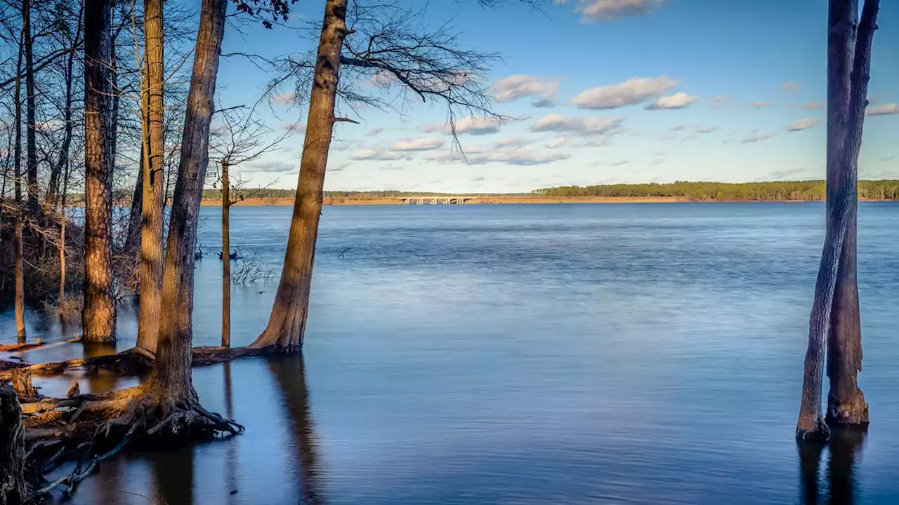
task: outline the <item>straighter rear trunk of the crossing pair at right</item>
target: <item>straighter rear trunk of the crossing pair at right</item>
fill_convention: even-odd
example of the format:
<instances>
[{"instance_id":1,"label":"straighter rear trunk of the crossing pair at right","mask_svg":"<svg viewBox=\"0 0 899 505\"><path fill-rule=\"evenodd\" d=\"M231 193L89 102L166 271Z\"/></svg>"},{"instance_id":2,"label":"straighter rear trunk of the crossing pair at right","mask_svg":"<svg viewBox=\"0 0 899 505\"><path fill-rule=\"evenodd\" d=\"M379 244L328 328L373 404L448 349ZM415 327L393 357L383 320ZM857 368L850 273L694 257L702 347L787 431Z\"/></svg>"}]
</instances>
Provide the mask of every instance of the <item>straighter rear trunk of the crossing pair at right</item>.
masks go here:
<instances>
[{"instance_id":1,"label":"straighter rear trunk of the crossing pair at right","mask_svg":"<svg viewBox=\"0 0 899 505\"><path fill-rule=\"evenodd\" d=\"M871 7L865 5L866 12ZM877 7L874 7L877 9ZM850 9L850 13L844 11ZM846 131L852 128L850 107L851 93L859 83L856 58L870 59L870 41L864 40L865 31L859 27L858 40L854 30L841 30L840 23L845 21L859 22L857 1L832 2L829 15L828 37L828 79L827 79L827 188L845 181L850 190L858 194L858 157L850 165L843 160L843 151L850 149L846 144ZM869 14L870 15L870 14ZM876 13L874 14L876 15ZM873 22L874 20L871 20ZM865 18L862 18L865 22ZM870 33L873 35L873 28ZM868 54L858 54L866 51ZM859 65L866 65L859 61ZM868 64L869 65L869 64ZM867 80L867 77L865 77ZM867 89L867 83L864 84ZM828 195L830 196L830 195ZM831 389L827 395L826 419L832 424L865 424L868 423L868 403L859 389L858 375L861 370L861 318L859 314L859 281L857 278L857 237L858 237L858 199L850 201L849 228L840 258L840 270L837 275L836 289L833 295L831 313L831 332L828 337L827 377L830 377Z\"/></svg>"}]
</instances>

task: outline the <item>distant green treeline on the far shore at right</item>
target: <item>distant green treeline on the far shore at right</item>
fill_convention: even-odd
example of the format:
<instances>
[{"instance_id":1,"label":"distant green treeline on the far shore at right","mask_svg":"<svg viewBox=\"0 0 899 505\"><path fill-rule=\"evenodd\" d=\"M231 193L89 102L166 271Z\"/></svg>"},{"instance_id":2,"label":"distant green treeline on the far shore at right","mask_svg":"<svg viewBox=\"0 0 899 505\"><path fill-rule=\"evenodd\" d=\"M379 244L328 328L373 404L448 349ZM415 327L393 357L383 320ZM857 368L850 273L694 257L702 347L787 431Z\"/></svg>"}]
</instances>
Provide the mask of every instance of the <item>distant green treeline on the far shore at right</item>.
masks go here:
<instances>
[{"instance_id":1,"label":"distant green treeline on the far shore at right","mask_svg":"<svg viewBox=\"0 0 899 505\"><path fill-rule=\"evenodd\" d=\"M823 200L823 181L672 182L669 184L603 184L535 190L547 197L645 198L670 197L690 201ZM860 199L899 199L899 181L859 181Z\"/></svg>"}]
</instances>

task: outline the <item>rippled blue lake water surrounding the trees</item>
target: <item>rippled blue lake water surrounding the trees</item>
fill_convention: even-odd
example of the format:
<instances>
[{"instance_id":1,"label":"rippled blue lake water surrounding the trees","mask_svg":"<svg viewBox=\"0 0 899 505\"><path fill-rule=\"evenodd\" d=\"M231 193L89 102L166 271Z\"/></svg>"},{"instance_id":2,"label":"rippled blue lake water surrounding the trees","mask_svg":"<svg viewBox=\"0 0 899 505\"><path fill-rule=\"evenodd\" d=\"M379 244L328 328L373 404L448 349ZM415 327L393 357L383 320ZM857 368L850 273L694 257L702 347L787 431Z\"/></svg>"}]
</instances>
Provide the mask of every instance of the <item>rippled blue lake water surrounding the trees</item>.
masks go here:
<instances>
[{"instance_id":1,"label":"rippled blue lake water surrounding the trees","mask_svg":"<svg viewBox=\"0 0 899 505\"><path fill-rule=\"evenodd\" d=\"M290 210L233 208L232 244L280 268ZM204 249L219 213L203 208ZM304 358L194 370L245 433L123 455L74 502L897 503L897 204L859 208L867 438L803 455L793 439L823 218L820 203L327 207ZM198 263L197 345L219 339L219 275L214 254ZM263 330L276 281L235 289L236 345ZM133 345L124 309L119 329ZM14 340L10 313L0 331Z\"/></svg>"}]
</instances>

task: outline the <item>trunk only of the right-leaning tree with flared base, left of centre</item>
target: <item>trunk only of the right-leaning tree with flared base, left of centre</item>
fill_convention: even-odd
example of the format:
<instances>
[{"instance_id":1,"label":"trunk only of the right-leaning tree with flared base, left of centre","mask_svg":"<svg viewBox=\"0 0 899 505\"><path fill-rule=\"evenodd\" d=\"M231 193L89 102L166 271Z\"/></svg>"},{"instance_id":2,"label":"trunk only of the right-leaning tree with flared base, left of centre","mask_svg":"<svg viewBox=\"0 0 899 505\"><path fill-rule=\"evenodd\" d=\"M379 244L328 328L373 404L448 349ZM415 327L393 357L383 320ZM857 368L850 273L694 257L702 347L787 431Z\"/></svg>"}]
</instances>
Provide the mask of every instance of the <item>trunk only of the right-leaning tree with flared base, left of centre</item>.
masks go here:
<instances>
[{"instance_id":1,"label":"trunk only of the right-leaning tree with flared base, left of centre","mask_svg":"<svg viewBox=\"0 0 899 505\"><path fill-rule=\"evenodd\" d=\"M316 253L318 218L328 148L334 130L334 101L340 71L340 54L346 37L347 0L327 0L322 34L318 42L316 73L309 97L306 141L299 164L297 196L293 203L290 235L278 293L268 326L251 344L276 352L297 351L303 345Z\"/></svg>"}]
</instances>

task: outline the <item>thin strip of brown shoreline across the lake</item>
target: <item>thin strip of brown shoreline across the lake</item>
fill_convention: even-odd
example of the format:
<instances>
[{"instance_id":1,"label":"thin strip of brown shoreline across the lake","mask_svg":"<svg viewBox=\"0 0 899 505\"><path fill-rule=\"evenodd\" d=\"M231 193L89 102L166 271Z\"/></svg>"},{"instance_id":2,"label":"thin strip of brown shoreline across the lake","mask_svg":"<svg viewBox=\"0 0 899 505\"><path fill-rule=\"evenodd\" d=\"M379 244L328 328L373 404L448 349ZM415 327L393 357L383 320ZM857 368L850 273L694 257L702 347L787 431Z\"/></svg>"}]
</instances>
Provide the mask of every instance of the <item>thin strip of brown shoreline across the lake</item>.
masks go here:
<instances>
[{"instance_id":1,"label":"thin strip of brown shoreline across the lake","mask_svg":"<svg viewBox=\"0 0 899 505\"><path fill-rule=\"evenodd\" d=\"M432 197L423 197L426 203L430 203ZM436 197L440 199L441 197ZM669 198L669 197L648 197L648 198L604 198L604 197L572 197L572 198L554 198L554 197L531 197L531 196L484 196L471 197L467 199L466 205L473 204L516 204L516 203L671 203L678 201L686 201L686 199ZM404 202L398 198L325 198L325 205L404 205ZM203 199L201 205L206 207L221 206L219 199ZM272 198L272 199L245 199L237 202L235 205L245 206L281 206L293 205L292 198Z\"/></svg>"}]
</instances>

